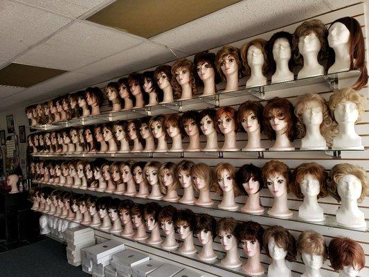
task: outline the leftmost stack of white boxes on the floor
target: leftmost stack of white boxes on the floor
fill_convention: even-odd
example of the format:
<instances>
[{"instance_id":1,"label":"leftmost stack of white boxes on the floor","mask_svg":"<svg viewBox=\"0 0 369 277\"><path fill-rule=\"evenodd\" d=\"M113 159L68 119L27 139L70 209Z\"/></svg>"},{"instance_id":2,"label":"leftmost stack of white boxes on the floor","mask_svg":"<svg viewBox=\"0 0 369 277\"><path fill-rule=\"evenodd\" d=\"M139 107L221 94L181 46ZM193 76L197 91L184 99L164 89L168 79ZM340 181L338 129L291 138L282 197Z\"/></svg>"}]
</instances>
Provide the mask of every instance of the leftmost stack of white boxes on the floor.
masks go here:
<instances>
[{"instance_id":1,"label":"leftmost stack of white boxes on the floor","mask_svg":"<svg viewBox=\"0 0 369 277\"><path fill-rule=\"evenodd\" d=\"M66 258L70 265L79 266L82 264L81 249L95 244L93 229L86 226L78 226L66 230Z\"/></svg>"}]
</instances>

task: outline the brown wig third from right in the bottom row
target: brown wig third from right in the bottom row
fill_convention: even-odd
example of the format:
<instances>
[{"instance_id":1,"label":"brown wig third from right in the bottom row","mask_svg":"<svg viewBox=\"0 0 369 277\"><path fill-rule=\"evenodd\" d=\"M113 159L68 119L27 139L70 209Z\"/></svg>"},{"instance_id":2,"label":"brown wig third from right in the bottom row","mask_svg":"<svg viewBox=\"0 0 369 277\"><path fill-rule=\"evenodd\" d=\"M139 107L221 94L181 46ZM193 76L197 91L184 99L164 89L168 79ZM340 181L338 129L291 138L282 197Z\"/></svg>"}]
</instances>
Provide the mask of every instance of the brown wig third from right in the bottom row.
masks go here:
<instances>
[{"instance_id":1,"label":"brown wig third from right in the bottom row","mask_svg":"<svg viewBox=\"0 0 369 277\"><path fill-rule=\"evenodd\" d=\"M293 262L296 260L296 240L291 233L282 226L270 226L267 230L265 230L264 235L262 237L262 241L264 244L265 252L267 256L271 258L268 248L269 240L273 238L274 242L278 247L287 251L286 260L289 262Z\"/></svg>"}]
</instances>

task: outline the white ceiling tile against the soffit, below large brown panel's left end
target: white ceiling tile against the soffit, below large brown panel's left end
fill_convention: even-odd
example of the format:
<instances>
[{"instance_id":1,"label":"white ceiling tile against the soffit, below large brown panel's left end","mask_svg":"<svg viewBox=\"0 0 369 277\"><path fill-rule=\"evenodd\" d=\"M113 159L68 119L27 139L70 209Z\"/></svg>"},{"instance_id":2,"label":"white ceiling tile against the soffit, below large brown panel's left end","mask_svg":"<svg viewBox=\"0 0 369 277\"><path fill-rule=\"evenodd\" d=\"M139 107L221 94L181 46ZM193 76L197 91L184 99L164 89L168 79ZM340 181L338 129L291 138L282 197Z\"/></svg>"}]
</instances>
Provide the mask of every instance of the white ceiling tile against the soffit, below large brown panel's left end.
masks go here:
<instances>
[{"instance_id":1,"label":"white ceiling tile against the soffit, below large brown panel's left end","mask_svg":"<svg viewBox=\"0 0 369 277\"><path fill-rule=\"evenodd\" d=\"M117 76L148 69L152 66L177 60L179 57L188 55L175 50L174 53L176 53L178 57L174 56L173 53L164 46L143 42L138 46L129 48L116 55L81 67L78 71L105 74L112 78L116 78Z\"/></svg>"}]
</instances>

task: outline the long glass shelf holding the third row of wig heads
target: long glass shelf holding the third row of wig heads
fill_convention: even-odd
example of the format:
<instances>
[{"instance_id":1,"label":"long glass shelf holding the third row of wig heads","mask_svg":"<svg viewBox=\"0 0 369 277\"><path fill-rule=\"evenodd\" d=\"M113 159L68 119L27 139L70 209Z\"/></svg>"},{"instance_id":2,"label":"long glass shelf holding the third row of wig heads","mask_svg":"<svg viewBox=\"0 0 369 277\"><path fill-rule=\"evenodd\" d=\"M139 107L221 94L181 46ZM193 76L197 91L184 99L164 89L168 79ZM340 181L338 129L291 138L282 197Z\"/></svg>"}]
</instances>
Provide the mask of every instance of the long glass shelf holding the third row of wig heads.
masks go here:
<instances>
[{"instance_id":1,"label":"long glass shelf holding the third row of wig heads","mask_svg":"<svg viewBox=\"0 0 369 277\"><path fill-rule=\"evenodd\" d=\"M325 231L327 231L327 229L330 229L331 232L332 232L332 229L336 229L335 231L338 231L338 233L340 233L340 230L345 229L347 231L353 232L352 235L356 235L356 237L359 236L358 233L363 233L364 236L366 235L366 233L369 233L368 220L366 220L366 225L367 225L366 228L352 229L352 228L348 228L348 227L337 224L335 217L333 215L325 215L325 221L323 222L308 222L298 217L297 211L293 211L293 215L291 217L273 217L267 214L267 209L266 211L264 211L264 213L259 213L259 214L244 213L240 210L239 211L226 211L221 208L217 208L217 205L220 203L220 201L218 200L214 200L213 206L202 207L202 206L187 205L187 204L181 204L181 203L165 202L163 200L154 200L154 199L132 197L132 196L126 196L126 195L116 195L114 193L103 193L103 192L98 192L96 190L81 190L79 188L57 186L57 185L52 185L52 184L43 184L40 182L35 182L35 184L40 184L41 186L48 186L52 188L58 188L58 189L70 191L73 193L87 193L89 195L95 195L98 197L111 196L111 197L115 197L118 199L131 199L135 203L140 203L140 204L146 204L148 202L157 202L161 205L172 205L176 207L177 209L186 209L186 208L195 207L196 213L206 213L214 217L234 217L236 220L241 220L241 221L252 220L252 221L259 222L260 224L265 224L265 225L270 225L271 219L273 219L273 224L277 224L281 226L285 226L286 221L288 221L288 222L298 223L299 226L305 226L306 229L311 228L311 225L316 225L318 229L325 229ZM239 204L239 207L242 206L241 203L237 203L237 204Z\"/></svg>"}]
</instances>

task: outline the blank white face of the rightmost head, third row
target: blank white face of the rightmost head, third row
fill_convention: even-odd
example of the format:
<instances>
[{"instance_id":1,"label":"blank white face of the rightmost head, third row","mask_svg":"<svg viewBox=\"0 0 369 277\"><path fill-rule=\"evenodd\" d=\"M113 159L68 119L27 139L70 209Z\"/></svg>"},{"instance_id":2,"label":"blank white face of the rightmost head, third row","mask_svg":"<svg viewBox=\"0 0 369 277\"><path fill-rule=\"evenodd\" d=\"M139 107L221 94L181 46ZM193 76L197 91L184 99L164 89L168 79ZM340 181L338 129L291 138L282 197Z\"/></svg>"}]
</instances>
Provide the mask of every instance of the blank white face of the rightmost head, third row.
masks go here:
<instances>
[{"instance_id":1,"label":"blank white face of the rightmost head, third row","mask_svg":"<svg viewBox=\"0 0 369 277\"><path fill-rule=\"evenodd\" d=\"M341 199L348 201L357 201L361 196L362 190L361 181L358 177L348 174L341 177L337 184L337 192Z\"/></svg>"}]
</instances>

